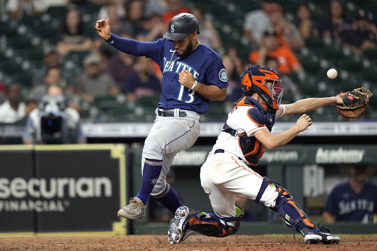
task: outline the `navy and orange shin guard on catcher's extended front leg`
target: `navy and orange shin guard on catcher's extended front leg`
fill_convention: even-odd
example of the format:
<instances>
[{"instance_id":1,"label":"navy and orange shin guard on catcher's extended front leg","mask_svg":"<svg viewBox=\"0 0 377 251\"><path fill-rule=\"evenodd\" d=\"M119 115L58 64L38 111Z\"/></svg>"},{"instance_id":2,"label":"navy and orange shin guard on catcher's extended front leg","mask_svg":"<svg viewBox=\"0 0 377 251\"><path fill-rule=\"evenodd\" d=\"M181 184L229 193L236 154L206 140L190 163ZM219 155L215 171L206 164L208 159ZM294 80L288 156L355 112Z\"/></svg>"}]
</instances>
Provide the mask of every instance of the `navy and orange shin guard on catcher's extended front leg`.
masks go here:
<instances>
[{"instance_id":1,"label":"navy and orange shin guard on catcher's extended front leg","mask_svg":"<svg viewBox=\"0 0 377 251\"><path fill-rule=\"evenodd\" d=\"M284 187L280 186L280 184L276 181L264 177L262 186L259 189L258 195L255 199L256 203L259 203L259 199L261 198L268 184L276 187L276 191L279 193L279 195L275 199L275 207L271 208L273 211L271 212L270 219L273 218L275 211L279 213L279 216L281 217L285 225L293 229L293 236L294 231L296 230L298 230L299 233L303 235L301 231L303 228L314 228L313 223L311 223L308 216L294 201L293 196L291 196L290 193L288 193L288 191Z\"/></svg>"}]
</instances>

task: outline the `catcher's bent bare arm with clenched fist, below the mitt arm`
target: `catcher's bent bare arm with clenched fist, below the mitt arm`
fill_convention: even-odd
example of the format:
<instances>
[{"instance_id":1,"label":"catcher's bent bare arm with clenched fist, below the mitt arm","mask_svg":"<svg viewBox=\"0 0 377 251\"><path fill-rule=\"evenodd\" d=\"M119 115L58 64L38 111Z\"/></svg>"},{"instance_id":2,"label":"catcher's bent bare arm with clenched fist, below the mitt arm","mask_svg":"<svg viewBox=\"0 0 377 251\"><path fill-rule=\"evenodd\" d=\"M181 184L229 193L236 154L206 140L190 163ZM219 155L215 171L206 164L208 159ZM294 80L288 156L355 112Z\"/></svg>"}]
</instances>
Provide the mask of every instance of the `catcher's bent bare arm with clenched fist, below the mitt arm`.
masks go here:
<instances>
[{"instance_id":1,"label":"catcher's bent bare arm with clenched fist, below the mitt arm","mask_svg":"<svg viewBox=\"0 0 377 251\"><path fill-rule=\"evenodd\" d=\"M297 134L305 131L308 126L311 125L311 118L306 114L303 114L296 122L296 125L288 129L285 132L277 134L271 134L270 131L261 129L254 132L254 137L261 141L262 144L268 149L274 149L280 146L284 146L291 141Z\"/></svg>"}]
</instances>

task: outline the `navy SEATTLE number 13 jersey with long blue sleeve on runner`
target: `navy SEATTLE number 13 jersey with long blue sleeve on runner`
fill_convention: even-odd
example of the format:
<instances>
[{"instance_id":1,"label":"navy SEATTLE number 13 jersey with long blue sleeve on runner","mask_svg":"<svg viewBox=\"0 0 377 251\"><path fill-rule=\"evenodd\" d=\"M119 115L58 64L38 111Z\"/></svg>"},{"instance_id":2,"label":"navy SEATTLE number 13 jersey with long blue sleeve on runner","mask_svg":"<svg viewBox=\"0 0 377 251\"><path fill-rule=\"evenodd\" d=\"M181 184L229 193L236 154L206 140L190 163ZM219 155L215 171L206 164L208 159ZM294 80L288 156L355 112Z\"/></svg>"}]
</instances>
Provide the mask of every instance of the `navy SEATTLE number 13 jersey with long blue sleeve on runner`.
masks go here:
<instances>
[{"instance_id":1,"label":"navy SEATTLE number 13 jersey with long blue sleeve on runner","mask_svg":"<svg viewBox=\"0 0 377 251\"><path fill-rule=\"evenodd\" d=\"M190 71L202 84L216 85L219 88L228 86L228 77L222 59L205 44L200 44L189 56L181 60L177 59L179 57L177 53L173 55L173 42L164 38L153 42L139 42L112 34L106 41L122 52L152 58L159 65L162 72L159 108L179 108L197 113L207 111L209 99L179 84L178 75L182 70Z\"/></svg>"}]
</instances>

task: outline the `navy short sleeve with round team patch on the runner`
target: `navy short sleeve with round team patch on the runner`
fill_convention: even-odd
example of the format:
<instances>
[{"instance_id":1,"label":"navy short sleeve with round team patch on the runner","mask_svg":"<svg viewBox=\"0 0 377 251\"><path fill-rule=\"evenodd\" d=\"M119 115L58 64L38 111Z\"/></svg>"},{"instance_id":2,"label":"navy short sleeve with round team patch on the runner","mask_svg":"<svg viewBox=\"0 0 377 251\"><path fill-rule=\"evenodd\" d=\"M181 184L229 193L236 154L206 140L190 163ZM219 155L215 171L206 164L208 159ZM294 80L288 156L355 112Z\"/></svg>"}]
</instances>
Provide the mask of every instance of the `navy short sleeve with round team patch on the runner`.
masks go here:
<instances>
[{"instance_id":1,"label":"navy short sleeve with round team patch on the runner","mask_svg":"<svg viewBox=\"0 0 377 251\"><path fill-rule=\"evenodd\" d=\"M208 69L205 71L205 80L206 83L203 84L216 85L220 89L229 85L227 72L220 57L215 58L208 65Z\"/></svg>"}]
</instances>

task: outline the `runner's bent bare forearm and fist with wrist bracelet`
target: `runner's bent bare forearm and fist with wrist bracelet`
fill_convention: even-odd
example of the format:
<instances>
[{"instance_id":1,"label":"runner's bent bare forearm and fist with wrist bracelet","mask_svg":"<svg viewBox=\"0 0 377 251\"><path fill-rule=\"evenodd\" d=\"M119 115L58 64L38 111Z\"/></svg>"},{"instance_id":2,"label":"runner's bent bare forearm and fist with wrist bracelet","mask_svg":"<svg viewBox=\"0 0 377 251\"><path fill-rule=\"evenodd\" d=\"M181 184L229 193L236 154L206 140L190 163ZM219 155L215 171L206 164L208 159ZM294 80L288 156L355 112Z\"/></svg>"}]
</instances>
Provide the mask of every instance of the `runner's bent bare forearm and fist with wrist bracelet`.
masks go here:
<instances>
[{"instance_id":1,"label":"runner's bent bare forearm and fist with wrist bracelet","mask_svg":"<svg viewBox=\"0 0 377 251\"><path fill-rule=\"evenodd\" d=\"M184 85L184 87L192 88L195 79L190 71L183 70L179 73L178 81L181 85ZM193 90L203 97L212 100L222 101L227 96L227 87L221 89L216 85L204 85L197 82L197 85L193 88Z\"/></svg>"}]
</instances>

